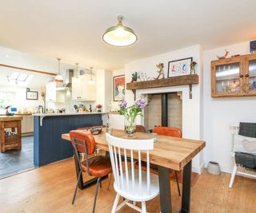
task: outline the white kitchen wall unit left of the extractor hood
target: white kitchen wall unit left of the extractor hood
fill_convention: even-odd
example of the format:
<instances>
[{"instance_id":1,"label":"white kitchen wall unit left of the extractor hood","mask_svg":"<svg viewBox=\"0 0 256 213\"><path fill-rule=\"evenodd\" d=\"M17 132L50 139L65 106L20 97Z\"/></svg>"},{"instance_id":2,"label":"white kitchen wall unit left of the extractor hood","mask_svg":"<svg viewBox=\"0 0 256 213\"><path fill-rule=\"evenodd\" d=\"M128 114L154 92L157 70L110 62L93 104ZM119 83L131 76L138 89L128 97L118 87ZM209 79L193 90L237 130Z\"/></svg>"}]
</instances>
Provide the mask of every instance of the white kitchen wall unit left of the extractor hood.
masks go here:
<instances>
[{"instance_id":1,"label":"white kitchen wall unit left of the extractor hood","mask_svg":"<svg viewBox=\"0 0 256 213\"><path fill-rule=\"evenodd\" d=\"M64 91L56 90L58 86L62 86L62 82L51 81L46 84L46 101L48 102L65 102Z\"/></svg>"}]
</instances>

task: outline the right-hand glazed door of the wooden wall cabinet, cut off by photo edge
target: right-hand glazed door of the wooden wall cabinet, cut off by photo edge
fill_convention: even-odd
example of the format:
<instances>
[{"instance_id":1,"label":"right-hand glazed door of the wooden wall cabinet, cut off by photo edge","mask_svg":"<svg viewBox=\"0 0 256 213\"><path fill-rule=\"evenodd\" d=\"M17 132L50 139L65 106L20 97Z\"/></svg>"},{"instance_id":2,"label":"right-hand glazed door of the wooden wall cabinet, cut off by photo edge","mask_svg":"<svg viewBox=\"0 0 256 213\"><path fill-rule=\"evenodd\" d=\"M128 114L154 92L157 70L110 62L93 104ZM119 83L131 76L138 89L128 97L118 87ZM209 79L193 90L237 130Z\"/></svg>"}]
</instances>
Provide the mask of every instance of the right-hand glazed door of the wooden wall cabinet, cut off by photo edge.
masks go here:
<instances>
[{"instance_id":1,"label":"right-hand glazed door of the wooden wall cabinet, cut off by photo edge","mask_svg":"<svg viewBox=\"0 0 256 213\"><path fill-rule=\"evenodd\" d=\"M246 61L246 93L256 93L256 58Z\"/></svg>"}]
</instances>

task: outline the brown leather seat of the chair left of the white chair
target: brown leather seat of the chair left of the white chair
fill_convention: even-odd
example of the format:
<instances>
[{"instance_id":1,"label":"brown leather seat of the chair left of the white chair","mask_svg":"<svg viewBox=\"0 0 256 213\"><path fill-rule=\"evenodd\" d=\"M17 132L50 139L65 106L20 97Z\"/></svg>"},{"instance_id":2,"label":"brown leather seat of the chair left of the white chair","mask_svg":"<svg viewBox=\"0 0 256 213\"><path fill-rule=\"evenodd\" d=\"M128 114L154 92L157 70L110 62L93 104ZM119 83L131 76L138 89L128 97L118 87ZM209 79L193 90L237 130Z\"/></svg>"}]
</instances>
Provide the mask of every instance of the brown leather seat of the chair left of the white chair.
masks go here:
<instances>
[{"instance_id":1,"label":"brown leather seat of the chair left of the white chair","mask_svg":"<svg viewBox=\"0 0 256 213\"><path fill-rule=\"evenodd\" d=\"M102 177L112 172L110 159L106 156L93 156L88 161L92 176ZM82 161L82 171L87 172L86 160Z\"/></svg>"}]
</instances>

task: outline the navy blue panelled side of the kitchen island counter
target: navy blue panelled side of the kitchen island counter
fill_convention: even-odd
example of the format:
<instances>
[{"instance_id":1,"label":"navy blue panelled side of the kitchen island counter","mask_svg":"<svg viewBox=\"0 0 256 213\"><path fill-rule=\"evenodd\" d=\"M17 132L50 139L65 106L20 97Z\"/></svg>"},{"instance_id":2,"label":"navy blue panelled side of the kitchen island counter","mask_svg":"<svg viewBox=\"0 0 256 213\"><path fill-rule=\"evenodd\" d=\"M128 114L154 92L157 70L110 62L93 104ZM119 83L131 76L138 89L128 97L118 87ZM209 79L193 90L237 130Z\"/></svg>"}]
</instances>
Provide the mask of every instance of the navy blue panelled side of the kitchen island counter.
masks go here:
<instances>
[{"instance_id":1,"label":"navy blue panelled side of the kitchen island counter","mask_svg":"<svg viewBox=\"0 0 256 213\"><path fill-rule=\"evenodd\" d=\"M41 115L42 116L42 115ZM102 125L102 114L34 116L34 166L41 167L73 156L69 141L62 134L81 127Z\"/></svg>"}]
</instances>

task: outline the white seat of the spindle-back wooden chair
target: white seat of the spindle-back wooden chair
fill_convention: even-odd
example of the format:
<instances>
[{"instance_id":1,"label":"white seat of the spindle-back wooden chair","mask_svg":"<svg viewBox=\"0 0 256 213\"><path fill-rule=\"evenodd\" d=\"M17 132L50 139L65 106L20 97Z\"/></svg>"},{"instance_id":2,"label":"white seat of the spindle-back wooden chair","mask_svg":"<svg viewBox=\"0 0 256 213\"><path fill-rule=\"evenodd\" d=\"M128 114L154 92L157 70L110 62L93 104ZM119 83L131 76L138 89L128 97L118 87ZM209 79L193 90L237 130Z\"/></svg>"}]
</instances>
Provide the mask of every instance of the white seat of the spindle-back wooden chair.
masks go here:
<instances>
[{"instance_id":1,"label":"white seat of the spindle-back wooden chair","mask_svg":"<svg viewBox=\"0 0 256 213\"><path fill-rule=\"evenodd\" d=\"M118 184L117 179L114 180L114 190L118 192L119 195L126 199L134 201L146 201L154 199L155 196L159 194L159 181L158 176L150 174L150 193L147 191L147 181L146 172L142 171L142 191L139 189L138 181L138 170L134 169L134 185L132 183L131 170L129 171L129 182L126 182L126 174L123 173L123 184L121 181L121 176L119 176L120 183Z\"/></svg>"}]
</instances>

